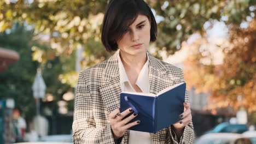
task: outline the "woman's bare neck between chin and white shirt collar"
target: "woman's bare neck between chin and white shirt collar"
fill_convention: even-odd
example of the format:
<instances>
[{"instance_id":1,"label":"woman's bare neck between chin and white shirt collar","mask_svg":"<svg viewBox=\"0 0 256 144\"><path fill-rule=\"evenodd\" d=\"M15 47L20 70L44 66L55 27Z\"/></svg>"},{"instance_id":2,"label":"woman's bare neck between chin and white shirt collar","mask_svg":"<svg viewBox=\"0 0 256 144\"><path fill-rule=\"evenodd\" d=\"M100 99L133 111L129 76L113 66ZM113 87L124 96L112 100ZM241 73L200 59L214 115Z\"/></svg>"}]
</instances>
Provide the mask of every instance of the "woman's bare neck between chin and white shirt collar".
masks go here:
<instances>
[{"instance_id":1,"label":"woman's bare neck between chin and white shirt collar","mask_svg":"<svg viewBox=\"0 0 256 144\"><path fill-rule=\"evenodd\" d=\"M147 62L147 52L145 51L139 55L125 55L120 51L120 58L125 70L134 69L140 71Z\"/></svg>"}]
</instances>

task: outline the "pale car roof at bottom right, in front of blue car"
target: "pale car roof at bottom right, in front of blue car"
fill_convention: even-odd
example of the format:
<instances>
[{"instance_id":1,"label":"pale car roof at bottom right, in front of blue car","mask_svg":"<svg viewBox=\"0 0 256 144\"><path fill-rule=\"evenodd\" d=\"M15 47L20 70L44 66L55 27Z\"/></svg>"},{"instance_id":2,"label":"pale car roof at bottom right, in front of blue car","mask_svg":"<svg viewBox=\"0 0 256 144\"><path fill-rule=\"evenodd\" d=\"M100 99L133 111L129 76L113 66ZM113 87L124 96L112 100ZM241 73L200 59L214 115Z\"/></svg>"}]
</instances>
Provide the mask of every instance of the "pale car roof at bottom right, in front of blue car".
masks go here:
<instances>
[{"instance_id":1,"label":"pale car roof at bottom right, in front of blue car","mask_svg":"<svg viewBox=\"0 0 256 144\"><path fill-rule=\"evenodd\" d=\"M252 141L241 134L210 133L202 135L195 144L252 144Z\"/></svg>"}]
</instances>

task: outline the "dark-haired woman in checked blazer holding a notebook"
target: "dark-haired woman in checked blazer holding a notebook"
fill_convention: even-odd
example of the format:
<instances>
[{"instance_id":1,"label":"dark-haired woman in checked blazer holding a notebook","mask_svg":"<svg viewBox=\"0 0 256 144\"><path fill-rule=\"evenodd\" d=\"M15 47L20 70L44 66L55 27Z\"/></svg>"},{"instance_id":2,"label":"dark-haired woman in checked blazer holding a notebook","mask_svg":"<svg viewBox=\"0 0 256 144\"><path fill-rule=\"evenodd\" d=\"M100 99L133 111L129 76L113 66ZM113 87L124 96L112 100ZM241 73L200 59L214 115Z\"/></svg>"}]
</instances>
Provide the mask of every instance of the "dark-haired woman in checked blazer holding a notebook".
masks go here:
<instances>
[{"instance_id":1,"label":"dark-haired woman in checked blazer holding a notebook","mask_svg":"<svg viewBox=\"0 0 256 144\"><path fill-rule=\"evenodd\" d=\"M110 1L104 15L102 43L117 51L107 61L79 74L73 122L74 143L194 143L186 91L181 121L156 134L127 130L139 113L120 112L120 92L158 93L184 82L181 69L161 62L147 51L156 40L154 15L143 0ZM123 119L129 113L133 115Z\"/></svg>"}]
</instances>

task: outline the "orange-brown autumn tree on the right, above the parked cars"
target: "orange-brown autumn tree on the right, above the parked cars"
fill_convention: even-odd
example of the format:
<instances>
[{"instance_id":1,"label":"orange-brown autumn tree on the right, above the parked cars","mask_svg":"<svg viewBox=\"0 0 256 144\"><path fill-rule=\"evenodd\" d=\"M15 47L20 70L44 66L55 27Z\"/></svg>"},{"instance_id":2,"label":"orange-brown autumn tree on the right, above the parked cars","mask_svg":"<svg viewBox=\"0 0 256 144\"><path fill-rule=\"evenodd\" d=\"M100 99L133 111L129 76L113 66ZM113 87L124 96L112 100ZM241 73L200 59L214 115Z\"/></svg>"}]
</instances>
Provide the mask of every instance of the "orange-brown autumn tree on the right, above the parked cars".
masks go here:
<instances>
[{"instance_id":1,"label":"orange-brown autumn tree on the right, above the parked cars","mask_svg":"<svg viewBox=\"0 0 256 144\"><path fill-rule=\"evenodd\" d=\"M222 51L224 56L219 65L213 64L209 49L202 49L208 44L206 38L187 45L193 53L185 62L185 79L197 92L211 93L211 99L217 103L210 105L211 109L232 106L237 110L244 106L248 112L253 112L256 111L256 19L249 22L248 28L233 25L229 35L228 41L216 45L216 50ZM203 63L206 58L210 63Z\"/></svg>"}]
</instances>

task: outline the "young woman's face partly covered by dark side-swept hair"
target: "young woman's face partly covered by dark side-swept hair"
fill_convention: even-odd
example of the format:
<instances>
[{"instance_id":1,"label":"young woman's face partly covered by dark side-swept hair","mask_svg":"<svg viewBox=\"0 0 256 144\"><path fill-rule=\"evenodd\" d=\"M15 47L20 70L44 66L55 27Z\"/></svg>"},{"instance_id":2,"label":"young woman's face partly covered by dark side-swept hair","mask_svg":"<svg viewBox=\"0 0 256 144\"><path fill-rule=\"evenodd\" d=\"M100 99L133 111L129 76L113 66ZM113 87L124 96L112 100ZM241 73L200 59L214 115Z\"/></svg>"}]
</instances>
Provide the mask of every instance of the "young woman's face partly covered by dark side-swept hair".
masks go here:
<instances>
[{"instance_id":1,"label":"young woman's face partly covered by dark side-swept hair","mask_svg":"<svg viewBox=\"0 0 256 144\"><path fill-rule=\"evenodd\" d=\"M139 14L136 20L117 41L121 53L138 55L147 50L150 42L150 23L148 17Z\"/></svg>"}]
</instances>

